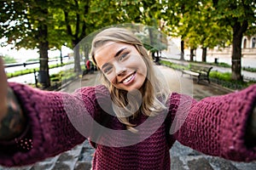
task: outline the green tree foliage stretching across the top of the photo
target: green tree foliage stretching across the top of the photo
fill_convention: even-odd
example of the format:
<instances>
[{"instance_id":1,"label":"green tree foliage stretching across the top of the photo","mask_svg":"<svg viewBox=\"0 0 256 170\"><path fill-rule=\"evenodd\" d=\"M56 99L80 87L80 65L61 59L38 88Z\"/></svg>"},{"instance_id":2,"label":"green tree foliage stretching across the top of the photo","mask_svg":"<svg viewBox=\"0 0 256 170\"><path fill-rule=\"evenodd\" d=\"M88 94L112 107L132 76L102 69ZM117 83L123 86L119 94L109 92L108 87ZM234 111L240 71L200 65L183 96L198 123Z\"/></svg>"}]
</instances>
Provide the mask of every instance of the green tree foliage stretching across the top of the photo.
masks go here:
<instances>
[{"instance_id":1,"label":"green tree foliage stretching across the top of the photo","mask_svg":"<svg viewBox=\"0 0 256 170\"><path fill-rule=\"evenodd\" d=\"M255 33L252 0L15 0L1 6L1 37L17 48L38 48L40 23L48 26L49 48L73 48L90 32L132 22L182 37L193 48L230 43L236 21L247 20L248 32Z\"/></svg>"}]
</instances>

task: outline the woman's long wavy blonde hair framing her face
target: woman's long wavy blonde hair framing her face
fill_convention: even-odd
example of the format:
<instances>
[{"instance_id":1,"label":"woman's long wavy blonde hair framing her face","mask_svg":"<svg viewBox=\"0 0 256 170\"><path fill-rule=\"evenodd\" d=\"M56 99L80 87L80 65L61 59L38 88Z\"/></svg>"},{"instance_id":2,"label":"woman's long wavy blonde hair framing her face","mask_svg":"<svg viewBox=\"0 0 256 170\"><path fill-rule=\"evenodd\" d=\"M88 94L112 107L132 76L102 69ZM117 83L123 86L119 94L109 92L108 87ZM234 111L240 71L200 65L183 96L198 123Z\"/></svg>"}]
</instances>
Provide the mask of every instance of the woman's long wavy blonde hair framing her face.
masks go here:
<instances>
[{"instance_id":1,"label":"woman's long wavy blonde hair framing her face","mask_svg":"<svg viewBox=\"0 0 256 170\"><path fill-rule=\"evenodd\" d=\"M135 99L129 100L129 105L131 106L130 108L126 107L126 105L128 105L128 92L115 88L102 73L102 82L109 89L113 103L125 109L125 113L124 110L114 108L113 111L115 112L119 121L126 125L127 129L136 132L134 128L136 125L132 124L130 119L136 118L140 113L143 113L145 116L155 116L161 111L166 111L165 104L169 93L155 75L154 65L147 53L146 48L143 47L143 43L131 31L128 31L125 28L112 27L101 31L96 35L96 37L93 39L90 51L91 57L95 64L96 49L101 48L107 42L122 42L133 45L135 48L137 48L138 53L141 54L141 57L148 68L147 77L143 83L143 87L140 89L143 96L142 104L138 105L136 102L137 96L133 96ZM134 108L137 109L135 110L135 113L132 112L134 111ZM125 117L127 113L131 116Z\"/></svg>"}]
</instances>

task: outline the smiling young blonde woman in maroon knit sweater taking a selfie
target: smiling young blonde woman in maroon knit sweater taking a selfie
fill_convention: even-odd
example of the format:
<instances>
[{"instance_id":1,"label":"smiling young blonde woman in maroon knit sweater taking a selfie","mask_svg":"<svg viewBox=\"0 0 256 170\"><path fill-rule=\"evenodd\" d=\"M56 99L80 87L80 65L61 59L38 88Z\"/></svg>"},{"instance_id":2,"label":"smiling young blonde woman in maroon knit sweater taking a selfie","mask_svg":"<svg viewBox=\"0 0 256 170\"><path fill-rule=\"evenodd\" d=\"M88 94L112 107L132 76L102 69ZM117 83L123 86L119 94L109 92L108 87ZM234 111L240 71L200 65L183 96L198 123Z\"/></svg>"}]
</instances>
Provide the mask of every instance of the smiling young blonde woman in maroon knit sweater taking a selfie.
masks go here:
<instances>
[{"instance_id":1,"label":"smiling young blonde woman in maroon knit sweater taking a selfie","mask_svg":"<svg viewBox=\"0 0 256 170\"><path fill-rule=\"evenodd\" d=\"M32 164L85 139L93 169L170 169L178 140L207 155L256 160L256 85L195 101L169 93L142 42L123 28L96 35L102 85L73 94L7 83L1 63L0 164Z\"/></svg>"}]
</instances>

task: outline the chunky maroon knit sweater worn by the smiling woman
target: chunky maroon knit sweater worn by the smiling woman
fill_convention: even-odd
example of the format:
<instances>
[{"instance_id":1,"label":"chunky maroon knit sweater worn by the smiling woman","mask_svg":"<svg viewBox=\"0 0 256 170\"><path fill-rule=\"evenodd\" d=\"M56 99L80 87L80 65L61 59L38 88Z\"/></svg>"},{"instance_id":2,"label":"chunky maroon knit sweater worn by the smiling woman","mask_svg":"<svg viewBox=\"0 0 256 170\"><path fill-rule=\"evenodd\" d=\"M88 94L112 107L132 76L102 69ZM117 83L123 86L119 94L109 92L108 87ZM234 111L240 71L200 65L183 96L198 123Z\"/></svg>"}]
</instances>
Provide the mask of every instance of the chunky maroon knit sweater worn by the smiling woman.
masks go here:
<instances>
[{"instance_id":1,"label":"chunky maroon knit sweater worn by the smiling woman","mask_svg":"<svg viewBox=\"0 0 256 170\"><path fill-rule=\"evenodd\" d=\"M99 129L91 124L88 116L105 127L125 130L115 116L107 114L106 108L110 108L108 89L102 85L81 88L74 94L45 92L17 83L9 86L23 106L28 126L20 138L1 141L0 164L3 166L15 167L42 161L72 149L84 139L95 138L94 132ZM207 155L233 161L256 160L256 147L247 147L244 140L247 117L255 101L256 85L199 102L173 93L167 102L169 111L154 116L150 126L139 130L142 135L154 132L146 139L143 136L139 143L119 147L119 144L133 139L123 138L127 135L124 133L117 133L115 137L102 133L102 138L97 132L99 142L103 141L107 146L96 144L93 169L170 169L169 150L176 139ZM138 116L133 122L141 125L147 119L146 116ZM81 135L84 127L79 129L80 123L89 128L86 138ZM109 144L117 147L109 147Z\"/></svg>"}]
</instances>

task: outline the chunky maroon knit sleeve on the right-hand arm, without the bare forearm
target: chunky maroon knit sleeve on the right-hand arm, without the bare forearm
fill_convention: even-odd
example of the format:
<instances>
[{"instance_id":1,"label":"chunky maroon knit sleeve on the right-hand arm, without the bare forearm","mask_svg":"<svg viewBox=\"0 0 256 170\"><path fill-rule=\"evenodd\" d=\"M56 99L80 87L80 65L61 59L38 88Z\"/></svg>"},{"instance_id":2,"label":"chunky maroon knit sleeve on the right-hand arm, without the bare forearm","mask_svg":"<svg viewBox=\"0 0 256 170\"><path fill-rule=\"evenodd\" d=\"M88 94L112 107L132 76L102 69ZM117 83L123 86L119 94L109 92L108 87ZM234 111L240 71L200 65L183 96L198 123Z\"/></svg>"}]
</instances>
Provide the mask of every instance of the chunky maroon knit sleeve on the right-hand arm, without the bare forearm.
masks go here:
<instances>
[{"instance_id":1,"label":"chunky maroon knit sleeve on the right-hand arm, without the bare forearm","mask_svg":"<svg viewBox=\"0 0 256 170\"><path fill-rule=\"evenodd\" d=\"M232 161L256 160L256 141L253 146L245 141L247 119L255 102L256 84L240 92L198 102L188 96L172 94L170 134L181 144L207 155Z\"/></svg>"}]
</instances>

